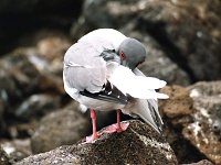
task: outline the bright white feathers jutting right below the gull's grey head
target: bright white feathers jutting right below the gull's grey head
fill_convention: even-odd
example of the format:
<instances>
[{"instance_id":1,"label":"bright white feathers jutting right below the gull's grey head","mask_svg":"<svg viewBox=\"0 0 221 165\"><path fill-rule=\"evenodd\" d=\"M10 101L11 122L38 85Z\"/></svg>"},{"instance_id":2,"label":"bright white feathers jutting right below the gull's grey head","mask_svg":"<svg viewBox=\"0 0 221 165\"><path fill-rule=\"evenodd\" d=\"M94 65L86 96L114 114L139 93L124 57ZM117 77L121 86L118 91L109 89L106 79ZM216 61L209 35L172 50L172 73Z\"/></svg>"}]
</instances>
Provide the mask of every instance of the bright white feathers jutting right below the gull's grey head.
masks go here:
<instances>
[{"instance_id":1,"label":"bright white feathers jutting right below the gull's grey head","mask_svg":"<svg viewBox=\"0 0 221 165\"><path fill-rule=\"evenodd\" d=\"M154 77L144 77L135 75L129 68L118 66L108 79L122 92L139 99L167 99L165 94L156 92L152 89L159 89L166 86L166 81Z\"/></svg>"}]
</instances>

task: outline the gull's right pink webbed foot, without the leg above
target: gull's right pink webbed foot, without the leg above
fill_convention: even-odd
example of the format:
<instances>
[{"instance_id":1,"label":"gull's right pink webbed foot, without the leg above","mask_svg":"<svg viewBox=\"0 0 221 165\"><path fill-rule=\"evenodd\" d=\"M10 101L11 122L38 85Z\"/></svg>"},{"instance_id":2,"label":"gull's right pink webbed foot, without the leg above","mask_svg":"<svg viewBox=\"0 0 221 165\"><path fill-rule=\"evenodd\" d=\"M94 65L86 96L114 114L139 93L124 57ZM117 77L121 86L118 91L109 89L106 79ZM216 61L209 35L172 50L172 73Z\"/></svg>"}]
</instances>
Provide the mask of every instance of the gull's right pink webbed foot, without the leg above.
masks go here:
<instances>
[{"instance_id":1,"label":"gull's right pink webbed foot, without the leg above","mask_svg":"<svg viewBox=\"0 0 221 165\"><path fill-rule=\"evenodd\" d=\"M114 132L123 132L125 130L127 130L129 123L115 123L115 124L112 124L109 127L107 127L103 133L114 133Z\"/></svg>"}]
</instances>

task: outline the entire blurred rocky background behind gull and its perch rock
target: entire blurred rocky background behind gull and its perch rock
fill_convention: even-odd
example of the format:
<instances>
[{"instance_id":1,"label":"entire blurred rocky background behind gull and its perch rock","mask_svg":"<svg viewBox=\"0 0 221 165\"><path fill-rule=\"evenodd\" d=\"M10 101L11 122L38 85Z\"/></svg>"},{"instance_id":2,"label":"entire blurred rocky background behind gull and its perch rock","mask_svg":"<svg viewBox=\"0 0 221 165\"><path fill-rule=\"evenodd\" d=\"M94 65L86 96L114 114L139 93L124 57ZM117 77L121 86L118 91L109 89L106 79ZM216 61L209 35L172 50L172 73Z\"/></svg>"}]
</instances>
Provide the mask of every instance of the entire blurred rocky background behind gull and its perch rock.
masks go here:
<instances>
[{"instance_id":1,"label":"entire blurred rocky background behind gull and its perch rock","mask_svg":"<svg viewBox=\"0 0 221 165\"><path fill-rule=\"evenodd\" d=\"M159 106L179 164L221 164L220 9L220 0L1 0L0 164L91 133L88 114L64 92L62 67L65 51L99 28L140 40L140 69L168 81L170 99ZM113 122L115 112L98 112L99 129Z\"/></svg>"}]
</instances>

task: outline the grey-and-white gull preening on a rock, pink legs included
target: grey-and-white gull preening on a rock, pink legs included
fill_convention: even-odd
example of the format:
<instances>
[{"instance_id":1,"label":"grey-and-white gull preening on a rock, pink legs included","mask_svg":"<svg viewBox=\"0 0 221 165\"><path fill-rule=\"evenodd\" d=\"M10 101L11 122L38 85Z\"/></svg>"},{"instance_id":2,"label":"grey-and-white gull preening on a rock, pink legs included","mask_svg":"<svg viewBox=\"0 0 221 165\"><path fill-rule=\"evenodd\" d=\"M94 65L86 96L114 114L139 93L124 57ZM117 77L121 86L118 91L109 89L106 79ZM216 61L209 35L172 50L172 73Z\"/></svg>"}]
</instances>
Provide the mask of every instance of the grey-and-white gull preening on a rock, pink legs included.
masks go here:
<instances>
[{"instance_id":1,"label":"grey-and-white gull preening on a rock, pink legs included","mask_svg":"<svg viewBox=\"0 0 221 165\"><path fill-rule=\"evenodd\" d=\"M138 116L161 133L162 120L158 99L167 99L155 89L166 81L146 77L137 66L147 56L145 46L136 38L127 37L114 29L90 32L73 44L64 55L63 82L65 91L83 107L91 109L93 134L86 142L94 142L96 112L117 110L117 123L105 132L122 132L128 127L120 123L123 113Z\"/></svg>"}]
</instances>

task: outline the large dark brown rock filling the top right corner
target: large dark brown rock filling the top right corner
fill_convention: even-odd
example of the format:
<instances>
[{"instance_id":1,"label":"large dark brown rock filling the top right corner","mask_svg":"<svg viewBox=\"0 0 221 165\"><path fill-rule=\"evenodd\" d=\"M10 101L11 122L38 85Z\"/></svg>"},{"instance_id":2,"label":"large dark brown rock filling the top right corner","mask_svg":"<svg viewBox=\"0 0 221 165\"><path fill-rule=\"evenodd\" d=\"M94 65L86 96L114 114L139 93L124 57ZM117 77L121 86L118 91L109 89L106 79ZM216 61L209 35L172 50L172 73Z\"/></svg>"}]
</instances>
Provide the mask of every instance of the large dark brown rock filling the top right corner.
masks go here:
<instances>
[{"instance_id":1,"label":"large dark brown rock filling the top right corner","mask_svg":"<svg viewBox=\"0 0 221 165\"><path fill-rule=\"evenodd\" d=\"M124 30L133 24L143 36L152 36L191 80L220 79L220 8L219 0L86 0L80 25L72 33L77 36L81 30L86 33L98 28Z\"/></svg>"}]
</instances>

